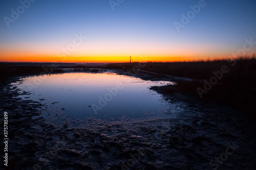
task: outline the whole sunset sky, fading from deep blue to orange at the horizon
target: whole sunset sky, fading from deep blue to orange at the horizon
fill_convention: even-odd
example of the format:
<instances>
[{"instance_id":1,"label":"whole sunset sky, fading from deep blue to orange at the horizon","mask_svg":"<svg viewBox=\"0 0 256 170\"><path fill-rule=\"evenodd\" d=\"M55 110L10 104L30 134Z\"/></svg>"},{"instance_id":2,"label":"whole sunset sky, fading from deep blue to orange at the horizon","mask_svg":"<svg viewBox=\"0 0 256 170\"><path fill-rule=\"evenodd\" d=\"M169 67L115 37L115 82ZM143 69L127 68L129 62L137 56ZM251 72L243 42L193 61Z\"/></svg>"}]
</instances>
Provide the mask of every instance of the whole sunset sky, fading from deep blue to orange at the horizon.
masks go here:
<instances>
[{"instance_id":1,"label":"whole sunset sky, fading from deep blue to orange at the horizon","mask_svg":"<svg viewBox=\"0 0 256 170\"><path fill-rule=\"evenodd\" d=\"M256 53L255 7L255 0L2 0L0 62L251 55Z\"/></svg>"}]
</instances>

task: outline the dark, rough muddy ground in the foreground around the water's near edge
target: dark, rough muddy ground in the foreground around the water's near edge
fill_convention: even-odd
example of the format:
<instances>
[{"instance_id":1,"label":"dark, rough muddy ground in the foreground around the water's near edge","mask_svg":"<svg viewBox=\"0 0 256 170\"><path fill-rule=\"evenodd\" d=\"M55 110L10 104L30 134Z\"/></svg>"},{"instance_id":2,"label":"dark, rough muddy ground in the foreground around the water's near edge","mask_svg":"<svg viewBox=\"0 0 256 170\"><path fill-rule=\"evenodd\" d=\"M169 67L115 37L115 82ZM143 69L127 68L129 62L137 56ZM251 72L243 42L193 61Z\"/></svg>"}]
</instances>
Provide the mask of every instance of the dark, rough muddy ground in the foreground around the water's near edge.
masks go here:
<instances>
[{"instance_id":1,"label":"dark, rough muddy ground in the foreground around the water's near edge","mask_svg":"<svg viewBox=\"0 0 256 170\"><path fill-rule=\"evenodd\" d=\"M13 98L27 93L13 89L14 81L1 85L1 125L8 112L5 169L256 168L255 122L231 108L173 94L163 98L182 108L175 118L46 117L40 102Z\"/></svg>"}]
</instances>

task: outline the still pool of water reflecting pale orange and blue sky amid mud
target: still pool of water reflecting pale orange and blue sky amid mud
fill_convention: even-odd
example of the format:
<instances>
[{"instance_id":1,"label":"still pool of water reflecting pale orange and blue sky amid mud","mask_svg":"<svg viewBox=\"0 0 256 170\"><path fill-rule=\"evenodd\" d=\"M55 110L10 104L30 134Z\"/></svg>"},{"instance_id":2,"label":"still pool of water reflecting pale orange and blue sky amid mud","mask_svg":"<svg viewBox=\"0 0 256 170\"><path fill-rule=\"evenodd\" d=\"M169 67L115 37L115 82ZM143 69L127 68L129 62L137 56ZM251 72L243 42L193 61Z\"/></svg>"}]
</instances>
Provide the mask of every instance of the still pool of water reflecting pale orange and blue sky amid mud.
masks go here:
<instances>
[{"instance_id":1,"label":"still pool of water reflecting pale orange and blue sky amid mud","mask_svg":"<svg viewBox=\"0 0 256 170\"><path fill-rule=\"evenodd\" d=\"M44 116L111 119L170 114L174 104L148 89L166 84L172 82L144 81L114 72L75 72L26 77L12 86L30 93L19 98L43 104Z\"/></svg>"}]
</instances>

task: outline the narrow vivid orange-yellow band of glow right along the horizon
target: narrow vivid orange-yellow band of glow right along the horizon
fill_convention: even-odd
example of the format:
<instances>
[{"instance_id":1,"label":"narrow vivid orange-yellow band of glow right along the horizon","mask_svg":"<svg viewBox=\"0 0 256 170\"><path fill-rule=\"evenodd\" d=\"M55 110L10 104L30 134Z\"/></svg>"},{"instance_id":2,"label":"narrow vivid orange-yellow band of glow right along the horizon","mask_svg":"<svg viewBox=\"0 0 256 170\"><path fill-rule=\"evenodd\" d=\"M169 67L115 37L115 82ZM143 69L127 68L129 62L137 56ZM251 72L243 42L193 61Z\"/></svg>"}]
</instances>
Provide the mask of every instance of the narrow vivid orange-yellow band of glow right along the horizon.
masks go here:
<instances>
[{"instance_id":1,"label":"narrow vivid orange-yellow band of glow right along the horizon","mask_svg":"<svg viewBox=\"0 0 256 170\"><path fill-rule=\"evenodd\" d=\"M40 55L34 55L32 53L22 53L19 51L12 52L12 53L2 53L0 54L0 62L85 62L85 63L115 63L115 62L130 62L130 56L132 56L132 59L134 62L179 62L179 61L197 61L197 60L207 60L207 59L215 59L215 58L225 58L226 56L220 56L220 55L211 55L207 56L204 54L187 54L183 55L137 55L138 53L131 53L127 55L105 55L105 56L93 56L93 55L87 55L87 56L81 56L81 55L72 55L72 56L55 56L55 55L49 55L47 53L40 54ZM140 53L141 54L141 53Z\"/></svg>"}]
</instances>

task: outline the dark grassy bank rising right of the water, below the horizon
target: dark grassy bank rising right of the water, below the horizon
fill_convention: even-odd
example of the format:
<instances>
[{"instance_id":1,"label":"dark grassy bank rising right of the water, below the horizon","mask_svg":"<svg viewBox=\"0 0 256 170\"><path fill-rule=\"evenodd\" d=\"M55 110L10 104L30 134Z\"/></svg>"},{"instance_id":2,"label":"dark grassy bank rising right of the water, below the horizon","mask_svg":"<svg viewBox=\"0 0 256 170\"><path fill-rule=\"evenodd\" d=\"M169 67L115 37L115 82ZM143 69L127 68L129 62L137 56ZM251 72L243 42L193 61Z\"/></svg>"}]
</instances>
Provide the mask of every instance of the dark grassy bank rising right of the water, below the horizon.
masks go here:
<instances>
[{"instance_id":1,"label":"dark grassy bank rising right of the water, below the horizon","mask_svg":"<svg viewBox=\"0 0 256 170\"><path fill-rule=\"evenodd\" d=\"M160 75L192 78L194 81L177 81L174 86L158 90L163 93L193 95L199 100L230 105L256 115L255 57L200 62L116 63L109 64L108 67L124 70L139 68Z\"/></svg>"}]
</instances>

